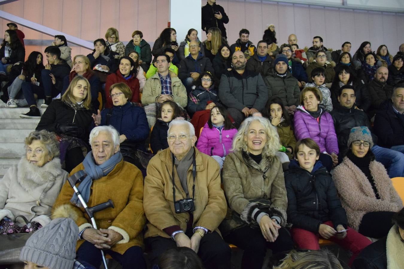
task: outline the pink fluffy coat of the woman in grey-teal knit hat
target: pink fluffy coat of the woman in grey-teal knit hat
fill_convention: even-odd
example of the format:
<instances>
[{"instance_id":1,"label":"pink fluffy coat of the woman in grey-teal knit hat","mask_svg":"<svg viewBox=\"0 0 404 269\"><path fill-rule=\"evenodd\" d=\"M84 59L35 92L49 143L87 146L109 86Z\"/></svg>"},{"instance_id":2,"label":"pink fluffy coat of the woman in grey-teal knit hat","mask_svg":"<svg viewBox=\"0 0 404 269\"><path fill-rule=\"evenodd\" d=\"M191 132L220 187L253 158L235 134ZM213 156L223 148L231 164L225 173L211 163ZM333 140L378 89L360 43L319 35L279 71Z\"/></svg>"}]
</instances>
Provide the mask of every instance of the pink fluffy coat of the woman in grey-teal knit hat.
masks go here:
<instances>
[{"instance_id":1,"label":"pink fluffy coat of the woman in grey-teal knit hat","mask_svg":"<svg viewBox=\"0 0 404 269\"><path fill-rule=\"evenodd\" d=\"M359 229L362 217L366 213L397 212L403 207L402 200L391 184L385 167L377 161L371 161L369 168L380 199L376 199L366 175L348 157L334 168L332 175L341 204L347 212L348 225L356 230Z\"/></svg>"}]
</instances>

